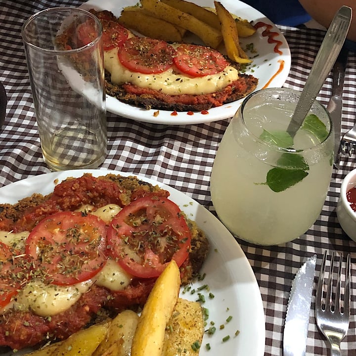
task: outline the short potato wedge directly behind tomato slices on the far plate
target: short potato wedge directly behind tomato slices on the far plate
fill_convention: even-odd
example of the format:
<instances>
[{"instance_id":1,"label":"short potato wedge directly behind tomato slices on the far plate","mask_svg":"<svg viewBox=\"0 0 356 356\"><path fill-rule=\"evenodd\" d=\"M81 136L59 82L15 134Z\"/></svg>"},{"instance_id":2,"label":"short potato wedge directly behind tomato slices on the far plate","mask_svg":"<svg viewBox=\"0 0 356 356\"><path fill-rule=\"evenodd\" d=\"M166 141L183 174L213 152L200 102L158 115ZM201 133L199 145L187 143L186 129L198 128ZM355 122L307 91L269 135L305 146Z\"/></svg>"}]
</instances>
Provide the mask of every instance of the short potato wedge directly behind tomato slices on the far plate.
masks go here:
<instances>
[{"instance_id":1,"label":"short potato wedge directly behind tomato slices on the far plate","mask_svg":"<svg viewBox=\"0 0 356 356\"><path fill-rule=\"evenodd\" d=\"M175 25L150 16L139 7L133 11L122 11L118 20L124 27L137 31L143 36L166 42L182 42L182 35Z\"/></svg>"}]
</instances>

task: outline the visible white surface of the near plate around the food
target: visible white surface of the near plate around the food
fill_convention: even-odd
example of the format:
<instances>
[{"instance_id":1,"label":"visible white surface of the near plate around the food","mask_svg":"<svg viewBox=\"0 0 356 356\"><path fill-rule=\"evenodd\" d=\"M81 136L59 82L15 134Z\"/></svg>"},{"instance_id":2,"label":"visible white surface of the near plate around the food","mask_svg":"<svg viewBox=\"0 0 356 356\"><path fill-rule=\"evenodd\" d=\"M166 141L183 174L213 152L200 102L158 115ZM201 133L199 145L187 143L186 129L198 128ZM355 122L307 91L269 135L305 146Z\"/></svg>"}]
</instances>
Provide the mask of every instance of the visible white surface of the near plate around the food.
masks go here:
<instances>
[{"instance_id":1,"label":"visible white surface of the near plate around the food","mask_svg":"<svg viewBox=\"0 0 356 356\"><path fill-rule=\"evenodd\" d=\"M48 194L55 187L55 180L61 182L67 177L81 177L84 173L102 176L108 173L128 176L127 173L107 170L75 170L54 172L31 178L26 178L0 188L0 203L16 203L19 199L33 193ZM175 201L187 217L196 221L207 234L211 243L209 256L202 272L206 277L201 282L195 282L193 288L209 285L214 298L209 298L209 292L203 290L209 309L209 320L215 322L217 331L210 336L205 333L200 356L231 355L231 356L263 356L265 352L265 315L262 298L252 268L241 247L224 225L207 209L187 195L149 178L138 177L151 184L158 184L167 189L170 199ZM181 297L197 299L197 294L181 293ZM232 319L226 322L228 316ZM220 325L224 329L220 330ZM240 333L235 336L236 330ZM222 339L230 335L227 342ZM206 350L206 344L211 350ZM9 353L7 355L14 355ZM19 353L17 354L19 355ZM4 356L4 355L1 355Z\"/></svg>"}]
</instances>

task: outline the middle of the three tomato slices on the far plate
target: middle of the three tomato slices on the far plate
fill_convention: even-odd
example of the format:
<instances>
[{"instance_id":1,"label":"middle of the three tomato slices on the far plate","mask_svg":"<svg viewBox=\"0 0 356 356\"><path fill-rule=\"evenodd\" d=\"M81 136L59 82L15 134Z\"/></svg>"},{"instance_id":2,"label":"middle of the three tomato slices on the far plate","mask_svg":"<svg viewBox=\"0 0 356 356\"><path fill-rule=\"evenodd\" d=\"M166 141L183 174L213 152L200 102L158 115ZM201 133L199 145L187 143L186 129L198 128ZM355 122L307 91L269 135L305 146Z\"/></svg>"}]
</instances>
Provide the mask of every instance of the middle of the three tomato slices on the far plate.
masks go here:
<instances>
[{"instance_id":1,"label":"middle of the three tomato slices on the far plate","mask_svg":"<svg viewBox=\"0 0 356 356\"><path fill-rule=\"evenodd\" d=\"M155 74L173 66L175 49L167 42L133 37L118 51L121 64L133 72Z\"/></svg>"}]
</instances>

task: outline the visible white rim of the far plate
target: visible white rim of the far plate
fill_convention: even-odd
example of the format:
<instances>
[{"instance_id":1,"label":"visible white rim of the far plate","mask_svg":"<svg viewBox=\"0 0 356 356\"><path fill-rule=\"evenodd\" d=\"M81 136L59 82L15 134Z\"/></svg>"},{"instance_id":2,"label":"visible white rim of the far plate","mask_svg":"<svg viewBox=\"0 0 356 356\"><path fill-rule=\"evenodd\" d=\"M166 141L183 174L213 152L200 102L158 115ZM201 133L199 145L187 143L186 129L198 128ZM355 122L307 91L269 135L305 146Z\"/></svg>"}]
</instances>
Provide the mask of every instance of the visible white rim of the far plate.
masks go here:
<instances>
[{"instance_id":1,"label":"visible white rim of the far plate","mask_svg":"<svg viewBox=\"0 0 356 356\"><path fill-rule=\"evenodd\" d=\"M189 1L197 3L199 0L189 0ZM205 2L208 1L212 2L212 0L205 0ZM263 13L261 13L254 7L240 0L221 0L221 2L224 5L229 5L234 7L243 6L249 11L251 11L252 13L256 15L258 14L258 16L260 16L261 19L263 19L263 21L266 24L272 25L273 31L278 33L282 41L282 44L284 46L283 51L285 51L285 53L283 53L283 56L281 56L281 59L284 60L284 68L281 71L281 73L279 73L279 75L275 79L273 79L270 85L268 85L268 88L269 87L281 88L288 78L288 74L291 67L290 48L282 32ZM98 3L100 3L100 5L98 5ZM121 0L120 5L114 7L117 7L120 10L122 7L126 6L125 3L133 5L137 3L137 1ZM110 0L88 0L87 2L84 2L80 7L89 8L90 6L95 7L97 9L105 9L105 7L110 7L110 6L112 7L113 5L112 5L112 1ZM110 11L112 11L111 7L110 7ZM253 21L253 19L251 21ZM157 109L146 110L144 108L139 108L130 104L122 103L115 97L106 95L106 110L113 114L128 119L132 119L137 122L162 124L162 125L193 125L193 124L203 124L203 123L210 123L210 122L215 122L220 120L226 120L234 115L234 113L241 105L242 101L243 98L236 100L232 103L224 104L223 106L220 107L212 108L208 110L209 114L207 115L203 115L200 112L194 112L194 115L187 115L187 112L183 111L183 112L179 112L177 116L172 116L171 115L172 110L157 110ZM116 107L117 105L119 109ZM159 111L159 114L157 116L154 116L154 113L157 111ZM164 119L160 119L160 116L162 117L163 115L164 115Z\"/></svg>"}]
</instances>

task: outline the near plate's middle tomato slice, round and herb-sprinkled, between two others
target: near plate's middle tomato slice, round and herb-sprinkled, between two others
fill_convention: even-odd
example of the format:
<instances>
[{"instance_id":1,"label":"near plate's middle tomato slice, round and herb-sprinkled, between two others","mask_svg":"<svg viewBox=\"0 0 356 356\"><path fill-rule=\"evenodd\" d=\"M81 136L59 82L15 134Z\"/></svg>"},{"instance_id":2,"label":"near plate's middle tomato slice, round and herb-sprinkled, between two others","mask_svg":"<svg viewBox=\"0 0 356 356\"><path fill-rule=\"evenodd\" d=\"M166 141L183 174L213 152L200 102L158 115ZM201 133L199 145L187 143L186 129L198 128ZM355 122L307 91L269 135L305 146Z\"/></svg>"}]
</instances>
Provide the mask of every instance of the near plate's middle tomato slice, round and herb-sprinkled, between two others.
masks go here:
<instances>
[{"instance_id":1,"label":"near plate's middle tomato slice, round and herb-sprinkled, between two others","mask_svg":"<svg viewBox=\"0 0 356 356\"><path fill-rule=\"evenodd\" d=\"M105 265L106 225L81 212L59 212L42 220L26 240L34 274L57 285L92 278Z\"/></svg>"}]
</instances>

